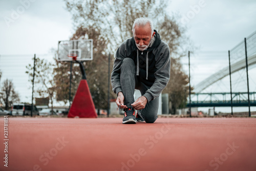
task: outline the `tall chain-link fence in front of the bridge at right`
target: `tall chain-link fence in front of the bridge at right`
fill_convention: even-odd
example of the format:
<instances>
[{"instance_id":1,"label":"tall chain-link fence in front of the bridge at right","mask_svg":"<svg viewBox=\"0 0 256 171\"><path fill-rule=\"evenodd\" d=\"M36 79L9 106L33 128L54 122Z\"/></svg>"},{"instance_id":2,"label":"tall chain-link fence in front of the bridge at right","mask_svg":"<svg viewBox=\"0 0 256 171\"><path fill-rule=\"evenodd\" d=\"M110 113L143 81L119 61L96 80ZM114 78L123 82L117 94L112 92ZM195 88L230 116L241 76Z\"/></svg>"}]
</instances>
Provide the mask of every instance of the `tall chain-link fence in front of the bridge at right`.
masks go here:
<instances>
[{"instance_id":1,"label":"tall chain-link fence in front of the bridge at right","mask_svg":"<svg viewBox=\"0 0 256 171\"><path fill-rule=\"evenodd\" d=\"M249 92L256 92L256 32L246 38L246 45ZM181 62L184 72L188 74L188 55ZM232 98L248 101L244 40L230 51L230 67L232 92L239 95L235 97L233 94ZM215 101L218 105L231 101L228 50L190 52L190 83L192 92L200 94L192 94L191 101ZM255 94L250 96L250 100L255 100ZM209 108L201 109L206 111ZM253 107L252 109L256 110ZM231 112L230 107L218 107L216 110ZM234 112L236 111L247 112L248 107L234 108Z\"/></svg>"}]
</instances>

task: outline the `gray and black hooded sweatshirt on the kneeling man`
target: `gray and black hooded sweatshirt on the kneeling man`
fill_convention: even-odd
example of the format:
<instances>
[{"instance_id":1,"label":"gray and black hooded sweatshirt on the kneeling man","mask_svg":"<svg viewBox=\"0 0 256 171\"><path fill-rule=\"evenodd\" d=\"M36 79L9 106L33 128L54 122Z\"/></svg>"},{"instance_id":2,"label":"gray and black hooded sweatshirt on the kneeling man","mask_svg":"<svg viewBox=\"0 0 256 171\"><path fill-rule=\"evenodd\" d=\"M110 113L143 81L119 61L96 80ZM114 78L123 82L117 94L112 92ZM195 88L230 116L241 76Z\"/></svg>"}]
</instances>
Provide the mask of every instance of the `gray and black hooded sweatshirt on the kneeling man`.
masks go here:
<instances>
[{"instance_id":1,"label":"gray and black hooded sweatshirt on the kneeling man","mask_svg":"<svg viewBox=\"0 0 256 171\"><path fill-rule=\"evenodd\" d=\"M138 50L134 37L125 40L116 51L111 83L114 93L121 92L120 66L126 57L132 58L136 65L138 80L150 87L143 95L148 102L158 97L170 78L170 51L168 45L156 34L148 49Z\"/></svg>"}]
</instances>

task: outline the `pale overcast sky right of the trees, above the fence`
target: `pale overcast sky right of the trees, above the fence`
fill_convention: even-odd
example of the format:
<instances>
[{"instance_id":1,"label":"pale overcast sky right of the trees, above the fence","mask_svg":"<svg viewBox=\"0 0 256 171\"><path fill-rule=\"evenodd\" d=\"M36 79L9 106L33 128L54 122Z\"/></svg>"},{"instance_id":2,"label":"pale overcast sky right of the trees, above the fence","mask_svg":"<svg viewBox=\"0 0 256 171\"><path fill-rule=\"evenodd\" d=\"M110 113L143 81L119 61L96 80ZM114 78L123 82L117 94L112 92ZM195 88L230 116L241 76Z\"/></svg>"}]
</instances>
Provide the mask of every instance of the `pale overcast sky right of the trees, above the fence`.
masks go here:
<instances>
[{"instance_id":1,"label":"pale overcast sky right of the trees, above the fence","mask_svg":"<svg viewBox=\"0 0 256 171\"><path fill-rule=\"evenodd\" d=\"M200 2L204 2L203 7L194 9L199 12L191 17L192 7L199 6ZM231 50L256 31L255 9L256 1L253 0L182 0L170 3L171 11L180 12L183 17L190 16L188 34L203 51Z\"/></svg>"}]
</instances>

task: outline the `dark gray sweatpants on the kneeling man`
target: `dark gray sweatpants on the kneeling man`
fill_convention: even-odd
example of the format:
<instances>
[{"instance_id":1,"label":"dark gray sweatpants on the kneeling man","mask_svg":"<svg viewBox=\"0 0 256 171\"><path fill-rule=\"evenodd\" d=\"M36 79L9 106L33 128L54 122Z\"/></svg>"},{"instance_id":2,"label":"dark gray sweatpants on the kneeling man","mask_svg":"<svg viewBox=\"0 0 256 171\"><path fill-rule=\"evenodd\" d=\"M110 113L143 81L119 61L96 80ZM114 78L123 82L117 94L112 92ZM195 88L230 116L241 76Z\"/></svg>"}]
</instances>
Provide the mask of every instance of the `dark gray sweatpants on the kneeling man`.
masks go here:
<instances>
[{"instance_id":1,"label":"dark gray sweatpants on the kneeling man","mask_svg":"<svg viewBox=\"0 0 256 171\"><path fill-rule=\"evenodd\" d=\"M138 89L141 95L150 89L143 82L138 80L136 76L136 67L133 59L124 58L121 65L120 83L122 92L124 95L124 104L128 107L132 107L134 100L135 89ZM144 109L140 110L141 117L147 123L154 123L157 119L157 112L159 106L159 97L148 102Z\"/></svg>"}]
</instances>

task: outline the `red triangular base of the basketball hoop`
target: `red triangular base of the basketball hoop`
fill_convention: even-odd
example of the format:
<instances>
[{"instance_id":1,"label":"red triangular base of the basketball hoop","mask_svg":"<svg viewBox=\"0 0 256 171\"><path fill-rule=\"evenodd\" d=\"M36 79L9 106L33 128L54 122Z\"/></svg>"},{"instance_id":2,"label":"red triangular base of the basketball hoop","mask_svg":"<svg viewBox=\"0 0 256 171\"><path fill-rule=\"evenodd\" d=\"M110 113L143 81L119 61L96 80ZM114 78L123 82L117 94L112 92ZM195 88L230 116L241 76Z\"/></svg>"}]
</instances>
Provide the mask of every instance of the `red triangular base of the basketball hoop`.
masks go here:
<instances>
[{"instance_id":1,"label":"red triangular base of the basketball hoop","mask_svg":"<svg viewBox=\"0 0 256 171\"><path fill-rule=\"evenodd\" d=\"M86 79L82 79L69 110L68 117L97 118L93 99Z\"/></svg>"}]
</instances>

